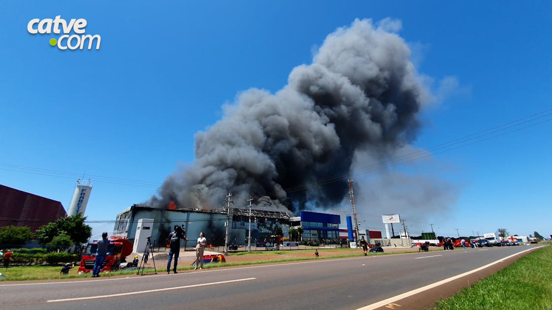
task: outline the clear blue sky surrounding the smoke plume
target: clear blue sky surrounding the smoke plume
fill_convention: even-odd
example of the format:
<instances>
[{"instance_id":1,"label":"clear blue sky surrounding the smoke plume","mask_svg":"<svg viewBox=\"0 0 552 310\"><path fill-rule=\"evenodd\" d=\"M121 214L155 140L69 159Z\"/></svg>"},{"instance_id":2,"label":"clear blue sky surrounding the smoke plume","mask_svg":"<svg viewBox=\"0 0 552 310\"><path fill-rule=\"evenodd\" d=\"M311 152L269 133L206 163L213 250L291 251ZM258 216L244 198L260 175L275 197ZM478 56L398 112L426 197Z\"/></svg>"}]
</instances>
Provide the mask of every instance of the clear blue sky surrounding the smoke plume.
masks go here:
<instances>
[{"instance_id":1,"label":"clear blue sky surrounding the smoke plume","mask_svg":"<svg viewBox=\"0 0 552 310\"><path fill-rule=\"evenodd\" d=\"M56 15L86 19L100 49L60 50L48 41L61 34L28 33L31 19ZM548 1L2 1L0 184L68 210L84 175L94 181L88 220L113 221L194 161L194 133L219 120L223 104L251 87L282 88L338 27L387 17L402 22L399 35L438 98L421 113L413 147L431 149L552 108ZM452 86L439 88L443 80ZM400 212L413 234L433 223L445 236L503 227L549 237L552 121L537 123L551 118L396 167L393 190L381 194L387 198L359 194L359 220L383 229L381 214ZM389 175L352 177L384 186ZM416 193L408 211L405 201L395 207L392 198L420 178L443 199L427 207Z\"/></svg>"}]
</instances>

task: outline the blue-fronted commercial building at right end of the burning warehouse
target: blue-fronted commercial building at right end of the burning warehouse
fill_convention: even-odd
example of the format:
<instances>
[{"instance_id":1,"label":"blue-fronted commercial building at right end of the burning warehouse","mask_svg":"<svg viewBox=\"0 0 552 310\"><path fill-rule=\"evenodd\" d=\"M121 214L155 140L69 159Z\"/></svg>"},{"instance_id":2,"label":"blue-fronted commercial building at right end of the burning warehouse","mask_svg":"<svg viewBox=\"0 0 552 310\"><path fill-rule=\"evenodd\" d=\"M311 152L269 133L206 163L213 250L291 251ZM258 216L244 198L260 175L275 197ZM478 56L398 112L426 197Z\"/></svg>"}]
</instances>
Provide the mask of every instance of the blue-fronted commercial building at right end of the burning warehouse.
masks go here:
<instances>
[{"instance_id":1,"label":"blue-fronted commercial building at right end of the burning warehouse","mask_svg":"<svg viewBox=\"0 0 552 310\"><path fill-rule=\"evenodd\" d=\"M303 228L302 240L338 240L341 217L335 214L301 211L301 216L291 217L290 226Z\"/></svg>"}]
</instances>

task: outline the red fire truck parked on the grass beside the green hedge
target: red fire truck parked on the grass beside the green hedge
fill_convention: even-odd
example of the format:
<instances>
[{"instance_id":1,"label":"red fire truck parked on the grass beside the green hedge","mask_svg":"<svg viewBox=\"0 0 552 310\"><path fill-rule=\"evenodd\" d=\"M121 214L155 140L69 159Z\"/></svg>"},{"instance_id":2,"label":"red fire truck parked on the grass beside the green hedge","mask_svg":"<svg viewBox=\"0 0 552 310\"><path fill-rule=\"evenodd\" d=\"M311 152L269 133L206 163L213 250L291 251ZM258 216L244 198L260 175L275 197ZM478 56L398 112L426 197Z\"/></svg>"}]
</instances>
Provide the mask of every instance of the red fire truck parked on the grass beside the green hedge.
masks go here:
<instances>
[{"instance_id":1,"label":"red fire truck parked on the grass beside the green hedge","mask_svg":"<svg viewBox=\"0 0 552 310\"><path fill-rule=\"evenodd\" d=\"M105 255L100 272L118 270L119 265L125 262L126 256L132 253L132 243L129 240L118 237L109 237L108 239L107 255ZM89 242L86 245L86 249L84 249L84 253L82 254L81 265L78 267L79 274L92 271L97 249L97 240Z\"/></svg>"}]
</instances>

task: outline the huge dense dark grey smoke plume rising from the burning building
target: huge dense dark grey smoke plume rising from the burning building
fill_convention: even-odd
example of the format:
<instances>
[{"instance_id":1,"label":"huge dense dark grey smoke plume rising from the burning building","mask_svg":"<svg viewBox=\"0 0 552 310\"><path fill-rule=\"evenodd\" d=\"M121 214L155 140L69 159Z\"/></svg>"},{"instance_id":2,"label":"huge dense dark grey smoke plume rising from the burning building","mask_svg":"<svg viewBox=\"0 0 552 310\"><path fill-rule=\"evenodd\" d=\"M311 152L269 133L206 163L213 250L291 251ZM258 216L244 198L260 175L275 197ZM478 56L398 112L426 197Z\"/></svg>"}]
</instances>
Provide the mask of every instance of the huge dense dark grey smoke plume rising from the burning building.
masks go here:
<instances>
[{"instance_id":1,"label":"huge dense dark grey smoke plume rising from the burning building","mask_svg":"<svg viewBox=\"0 0 552 310\"><path fill-rule=\"evenodd\" d=\"M243 92L195 135L195 162L168 177L151 202L212 209L229 191L236 201L263 196L254 204L267 209L341 202L355 152L384 157L410 142L429 97L405 41L391 32L400 22L378 25L355 20L328 35L275 94Z\"/></svg>"}]
</instances>

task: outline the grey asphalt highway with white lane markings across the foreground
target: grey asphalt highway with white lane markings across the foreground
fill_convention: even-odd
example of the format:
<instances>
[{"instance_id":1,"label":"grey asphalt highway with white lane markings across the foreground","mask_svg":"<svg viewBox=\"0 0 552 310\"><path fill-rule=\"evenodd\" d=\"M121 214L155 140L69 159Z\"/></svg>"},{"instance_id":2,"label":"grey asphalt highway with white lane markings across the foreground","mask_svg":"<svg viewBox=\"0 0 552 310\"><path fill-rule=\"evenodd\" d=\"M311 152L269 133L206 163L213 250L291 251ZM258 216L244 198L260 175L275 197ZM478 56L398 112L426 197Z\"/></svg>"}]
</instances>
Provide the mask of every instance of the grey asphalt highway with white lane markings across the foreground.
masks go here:
<instances>
[{"instance_id":1,"label":"grey asphalt highway with white lane markings across the foreground","mask_svg":"<svg viewBox=\"0 0 552 310\"><path fill-rule=\"evenodd\" d=\"M366 306L392 303L394 296L530 249L455 249L169 275L3 282L0 296L9 309L375 309Z\"/></svg>"}]
</instances>

